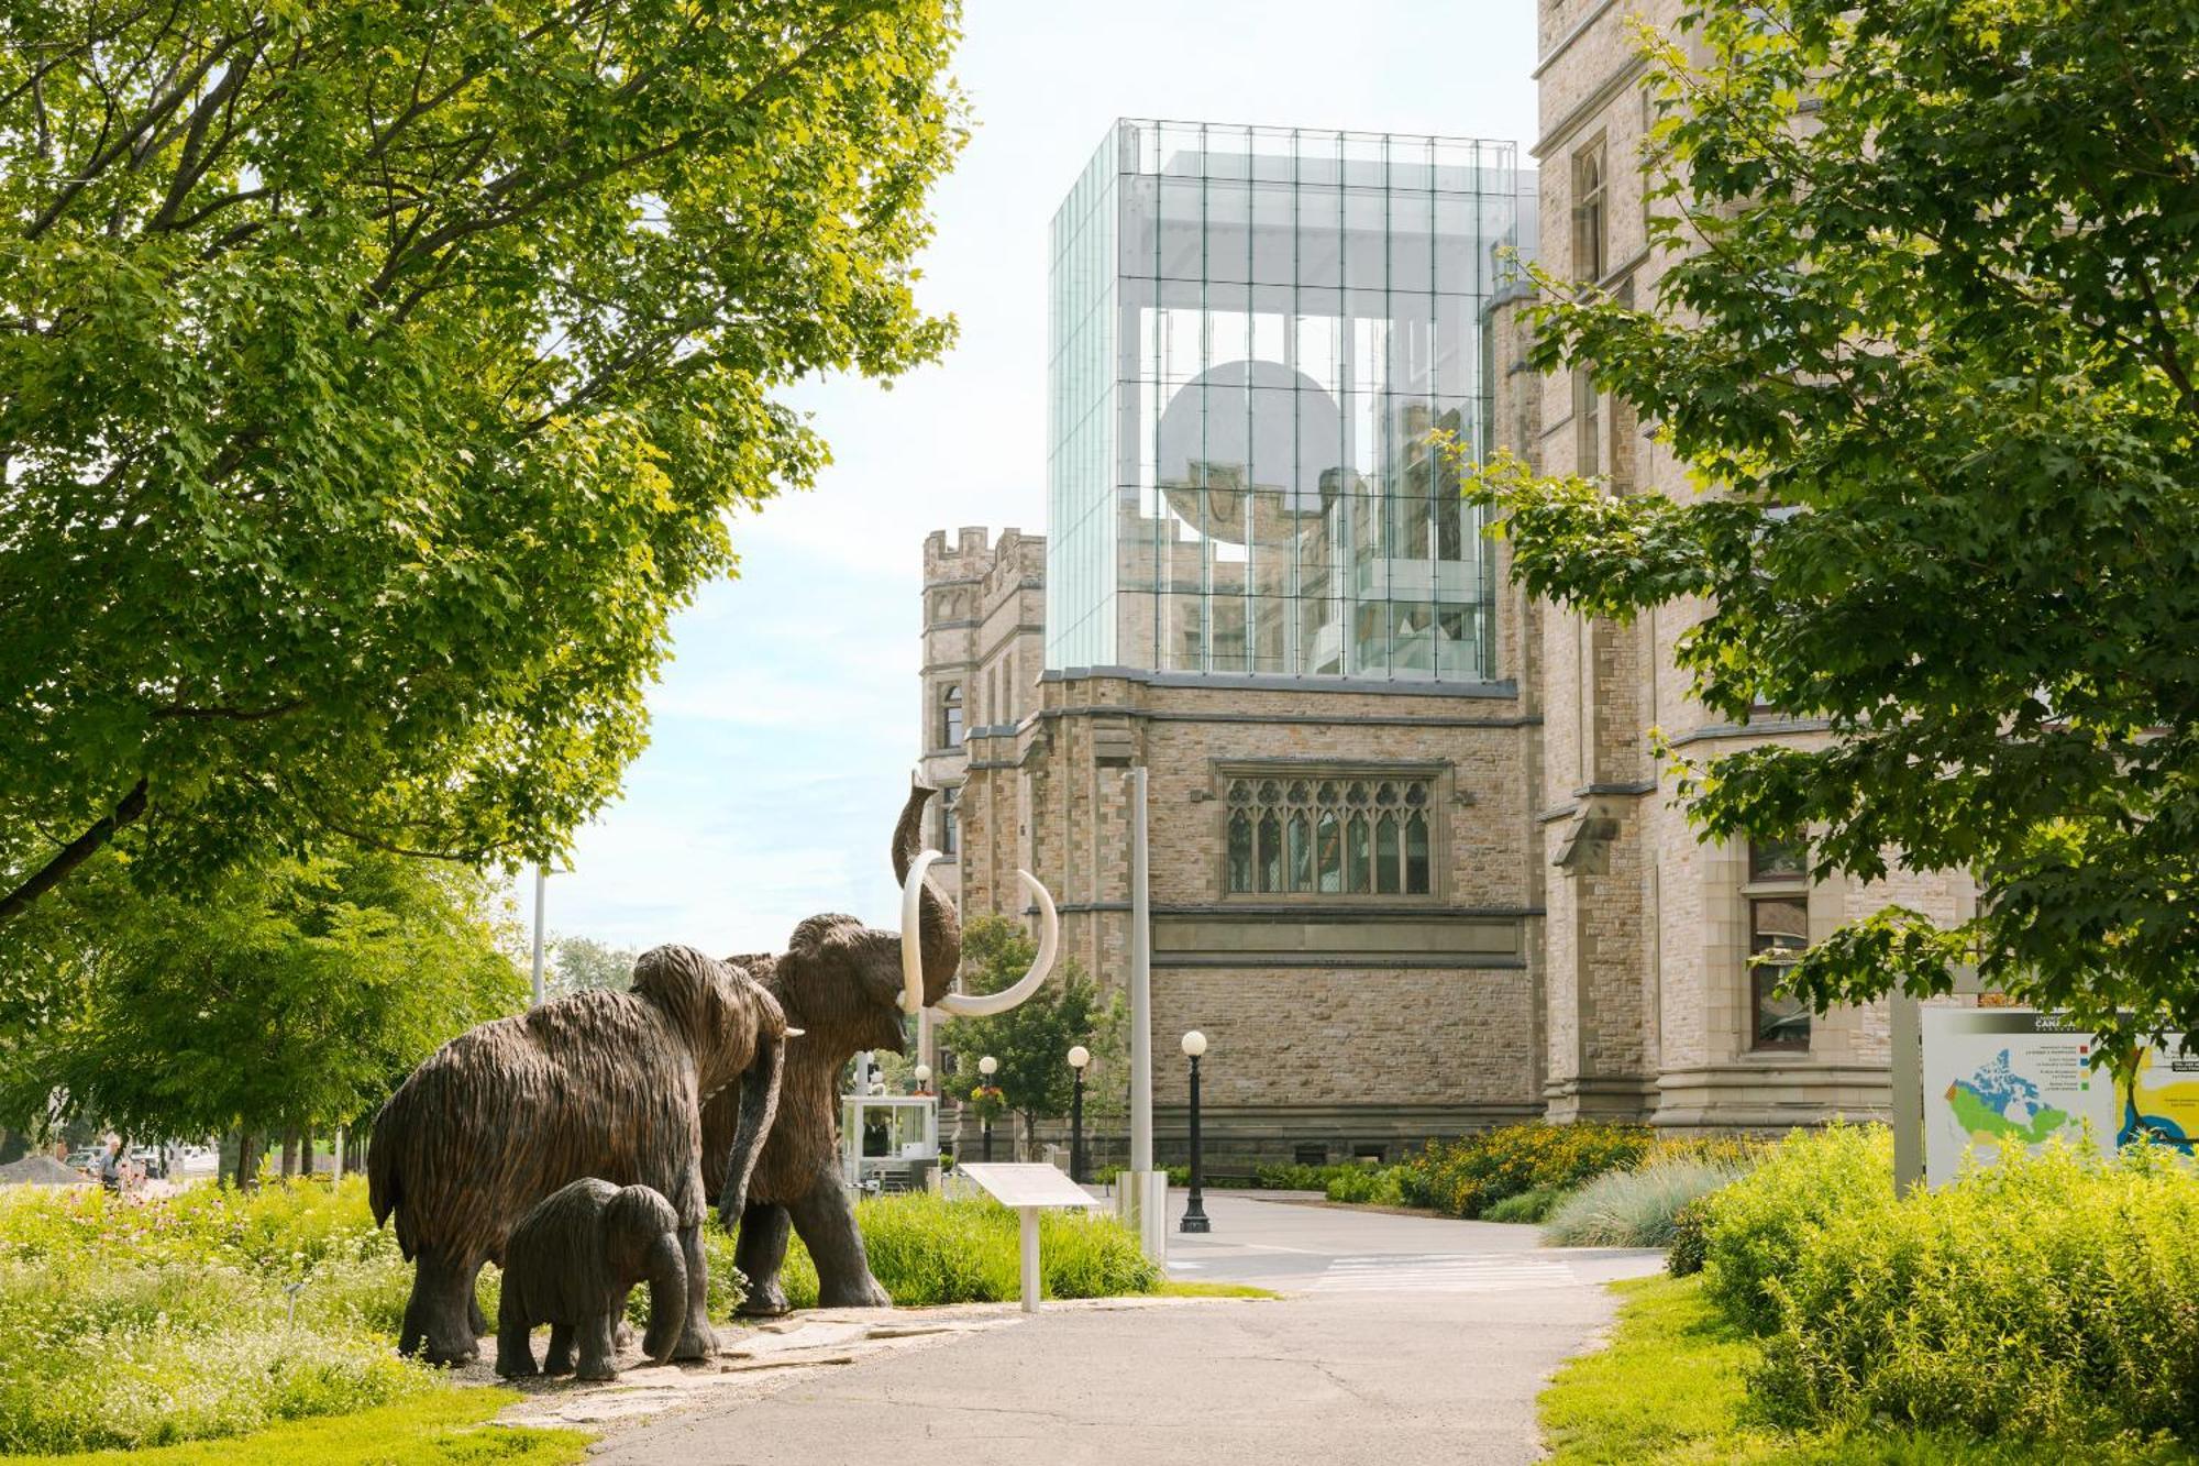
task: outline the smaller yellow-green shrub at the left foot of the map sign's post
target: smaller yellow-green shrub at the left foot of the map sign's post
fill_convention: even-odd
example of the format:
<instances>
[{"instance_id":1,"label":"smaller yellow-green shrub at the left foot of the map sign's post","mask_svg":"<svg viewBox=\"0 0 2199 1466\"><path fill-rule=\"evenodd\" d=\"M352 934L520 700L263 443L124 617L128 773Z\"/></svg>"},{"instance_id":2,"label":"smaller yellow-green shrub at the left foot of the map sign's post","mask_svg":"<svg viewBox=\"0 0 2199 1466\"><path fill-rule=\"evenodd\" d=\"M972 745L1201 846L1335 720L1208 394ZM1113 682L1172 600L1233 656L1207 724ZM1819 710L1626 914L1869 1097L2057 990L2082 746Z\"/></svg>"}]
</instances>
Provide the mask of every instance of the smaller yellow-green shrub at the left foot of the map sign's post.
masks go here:
<instances>
[{"instance_id":1,"label":"smaller yellow-green shrub at the left foot of the map sign's post","mask_svg":"<svg viewBox=\"0 0 2199 1466\"><path fill-rule=\"evenodd\" d=\"M1766 1334L1779 1323L1777 1279L1816 1235L1834 1217L1867 1222L1891 1206L1893 1134L1885 1125L1797 1131L1711 1202L1704 1292L1728 1319Z\"/></svg>"}]
</instances>

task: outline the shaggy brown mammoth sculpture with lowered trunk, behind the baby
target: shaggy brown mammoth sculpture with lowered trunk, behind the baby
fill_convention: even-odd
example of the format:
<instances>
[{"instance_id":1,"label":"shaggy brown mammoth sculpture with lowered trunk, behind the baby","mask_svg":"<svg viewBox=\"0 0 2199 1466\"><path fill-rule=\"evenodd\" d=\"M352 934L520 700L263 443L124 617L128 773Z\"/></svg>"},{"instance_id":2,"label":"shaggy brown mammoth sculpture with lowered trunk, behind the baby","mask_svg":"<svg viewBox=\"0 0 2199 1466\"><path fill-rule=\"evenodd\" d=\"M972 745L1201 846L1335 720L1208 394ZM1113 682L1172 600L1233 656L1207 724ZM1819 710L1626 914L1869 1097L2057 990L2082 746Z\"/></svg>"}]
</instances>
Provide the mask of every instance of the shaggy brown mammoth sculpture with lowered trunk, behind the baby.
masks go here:
<instances>
[{"instance_id":1,"label":"shaggy brown mammoth sculpture with lowered trunk, behind the baby","mask_svg":"<svg viewBox=\"0 0 2199 1466\"><path fill-rule=\"evenodd\" d=\"M374 1118L367 1197L413 1261L398 1347L479 1354L473 1279L530 1206L585 1175L664 1193L686 1263L673 1358L717 1341L704 1310L701 1105L723 1092L723 1195L739 1200L778 1103L787 1019L748 973L693 947L633 964L631 993L574 993L429 1054ZM734 1083L739 1081L739 1083Z\"/></svg>"}]
</instances>

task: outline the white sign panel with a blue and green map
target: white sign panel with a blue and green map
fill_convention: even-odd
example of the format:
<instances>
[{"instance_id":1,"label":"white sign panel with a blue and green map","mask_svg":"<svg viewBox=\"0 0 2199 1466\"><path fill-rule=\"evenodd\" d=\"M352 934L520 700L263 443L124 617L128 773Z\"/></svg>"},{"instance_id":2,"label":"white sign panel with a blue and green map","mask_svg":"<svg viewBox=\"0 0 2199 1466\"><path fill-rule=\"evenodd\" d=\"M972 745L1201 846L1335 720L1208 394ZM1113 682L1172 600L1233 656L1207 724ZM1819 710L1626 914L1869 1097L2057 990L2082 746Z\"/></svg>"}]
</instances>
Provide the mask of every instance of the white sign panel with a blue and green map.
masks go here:
<instances>
[{"instance_id":1,"label":"white sign panel with a blue and green map","mask_svg":"<svg viewBox=\"0 0 2199 1466\"><path fill-rule=\"evenodd\" d=\"M1977 1147L2063 1138L2113 1145L2115 1081L2091 1068L2091 1032L2027 1008L1924 1008L1924 1175L1955 1180Z\"/></svg>"}]
</instances>

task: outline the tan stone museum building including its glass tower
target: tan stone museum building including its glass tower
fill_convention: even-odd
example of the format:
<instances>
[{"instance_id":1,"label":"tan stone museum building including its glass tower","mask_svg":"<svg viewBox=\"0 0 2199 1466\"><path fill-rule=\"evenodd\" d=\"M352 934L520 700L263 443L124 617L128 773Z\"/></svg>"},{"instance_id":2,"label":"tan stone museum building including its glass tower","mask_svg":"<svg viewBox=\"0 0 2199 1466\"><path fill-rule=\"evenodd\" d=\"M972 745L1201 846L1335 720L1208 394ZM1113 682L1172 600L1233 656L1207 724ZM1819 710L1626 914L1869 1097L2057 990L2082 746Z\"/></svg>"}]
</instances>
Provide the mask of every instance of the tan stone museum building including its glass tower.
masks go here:
<instances>
[{"instance_id":1,"label":"tan stone museum building including its glass tower","mask_svg":"<svg viewBox=\"0 0 2199 1466\"><path fill-rule=\"evenodd\" d=\"M1185 1028L1225 1162L1887 1107L1882 1008L1812 1019L1748 958L1970 891L1810 885L1792 843L1700 843L1651 729L1704 755L1823 724L1713 724L1671 660L1700 612L1528 601L1436 451L1689 491L1645 425L1522 350L1513 253L1654 295L1623 22L1541 7L1539 167L1121 121L1056 214L1047 537L926 539L924 770L963 909L1020 911L1027 867L1064 955L1119 984L1146 768L1163 1149Z\"/></svg>"}]
</instances>

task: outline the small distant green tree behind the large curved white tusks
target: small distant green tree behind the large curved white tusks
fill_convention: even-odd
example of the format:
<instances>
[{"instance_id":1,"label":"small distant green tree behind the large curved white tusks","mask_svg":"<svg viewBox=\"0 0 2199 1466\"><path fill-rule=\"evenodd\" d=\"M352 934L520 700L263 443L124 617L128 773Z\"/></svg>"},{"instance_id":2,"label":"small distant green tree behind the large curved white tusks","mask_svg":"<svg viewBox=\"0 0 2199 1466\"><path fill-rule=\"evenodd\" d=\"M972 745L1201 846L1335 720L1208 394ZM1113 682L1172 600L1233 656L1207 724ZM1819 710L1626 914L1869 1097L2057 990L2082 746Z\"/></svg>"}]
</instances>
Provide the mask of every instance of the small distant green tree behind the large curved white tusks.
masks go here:
<instances>
[{"instance_id":1,"label":"small distant green tree behind the large curved white tusks","mask_svg":"<svg viewBox=\"0 0 2199 1466\"><path fill-rule=\"evenodd\" d=\"M1038 947L1018 922L979 916L963 927L963 991L998 993L1031 971ZM1093 1054L1086 1105L1104 1105L1113 1094L1106 1076L1121 1070L1128 1013L1121 993L1102 993L1075 962L1058 962L1053 975L1029 999L983 1019L948 1019L941 1048L954 1052L954 1094L963 1101L979 1087L976 1061L992 1054L1001 1070L1007 1109L1023 1118L1025 1142L1038 1140L1038 1120L1069 1114L1073 1076L1069 1050L1082 1043Z\"/></svg>"}]
</instances>

